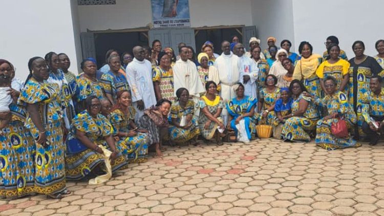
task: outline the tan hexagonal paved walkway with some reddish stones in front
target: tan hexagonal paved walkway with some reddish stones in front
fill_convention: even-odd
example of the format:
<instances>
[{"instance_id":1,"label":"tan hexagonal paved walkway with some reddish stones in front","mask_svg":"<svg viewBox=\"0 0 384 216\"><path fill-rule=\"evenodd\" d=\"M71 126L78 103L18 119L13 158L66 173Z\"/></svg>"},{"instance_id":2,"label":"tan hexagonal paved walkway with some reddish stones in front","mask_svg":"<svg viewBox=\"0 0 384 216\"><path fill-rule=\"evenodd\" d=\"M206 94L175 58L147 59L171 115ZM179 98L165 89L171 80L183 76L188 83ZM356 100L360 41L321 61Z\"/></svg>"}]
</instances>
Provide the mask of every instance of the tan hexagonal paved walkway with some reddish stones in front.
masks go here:
<instances>
[{"instance_id":1,"label":"tan hexagonal paved walkway with some reddish stones in front","mask_svg":"<svg viewBox=\"0 0 384 216\"><path fill-rule=\"evenodd\" d=\"M61 200L0 201L0 215L384 215L383 156L278 140L168 148L103 185L70 182Z\"/></svg>"}]
</instances>

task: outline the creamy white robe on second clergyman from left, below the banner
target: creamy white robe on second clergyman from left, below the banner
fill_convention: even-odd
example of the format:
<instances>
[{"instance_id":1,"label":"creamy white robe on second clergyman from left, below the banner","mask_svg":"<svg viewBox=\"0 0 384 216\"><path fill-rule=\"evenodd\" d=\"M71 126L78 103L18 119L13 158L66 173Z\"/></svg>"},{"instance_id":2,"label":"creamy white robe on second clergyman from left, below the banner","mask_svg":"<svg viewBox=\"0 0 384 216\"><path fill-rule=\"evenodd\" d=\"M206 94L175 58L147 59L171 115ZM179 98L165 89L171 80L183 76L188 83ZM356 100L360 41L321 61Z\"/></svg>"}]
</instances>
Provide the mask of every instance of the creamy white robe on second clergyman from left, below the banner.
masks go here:
<instances>
[{"instance_id":1,"label":"creamy white robe on second clergyman from left, below the banner","mask_svg":"<svg viewBox=\"0 0 384 216\"><path fill-rule=\"evenodd\" d=\"M204 93L203 84L200 81L199 73L197 72L196 64L190 60L176 61L173 67L174 72L174 95L180 88L188 90L189 95L200 97L200 93Z\"/></svg>"}]
</instances>

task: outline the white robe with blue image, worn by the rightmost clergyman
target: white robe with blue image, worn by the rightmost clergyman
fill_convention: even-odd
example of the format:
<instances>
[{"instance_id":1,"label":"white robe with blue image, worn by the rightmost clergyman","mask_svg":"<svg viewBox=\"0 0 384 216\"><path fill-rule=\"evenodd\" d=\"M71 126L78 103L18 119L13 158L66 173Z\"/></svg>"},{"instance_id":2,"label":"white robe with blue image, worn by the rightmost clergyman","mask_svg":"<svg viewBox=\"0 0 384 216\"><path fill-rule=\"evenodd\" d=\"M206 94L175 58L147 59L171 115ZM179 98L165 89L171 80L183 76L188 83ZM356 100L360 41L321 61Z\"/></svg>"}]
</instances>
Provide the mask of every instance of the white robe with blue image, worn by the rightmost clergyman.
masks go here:
<instances>
[{"instance_id":1,"label":"white robe with blue image, worn by the rightmost clergyman","mask_svg":"<svg viewBox=\"0 0 384 216\"><path fill-rule=\"evenodd\" d=\"M244 85L244 95L257 98L257 83L259 77L259 68L255 62L246 56L239 57L240 61L240 82ZM249 81L244 83L244 75L249 76Z\"/></svg>"}]
</instances>

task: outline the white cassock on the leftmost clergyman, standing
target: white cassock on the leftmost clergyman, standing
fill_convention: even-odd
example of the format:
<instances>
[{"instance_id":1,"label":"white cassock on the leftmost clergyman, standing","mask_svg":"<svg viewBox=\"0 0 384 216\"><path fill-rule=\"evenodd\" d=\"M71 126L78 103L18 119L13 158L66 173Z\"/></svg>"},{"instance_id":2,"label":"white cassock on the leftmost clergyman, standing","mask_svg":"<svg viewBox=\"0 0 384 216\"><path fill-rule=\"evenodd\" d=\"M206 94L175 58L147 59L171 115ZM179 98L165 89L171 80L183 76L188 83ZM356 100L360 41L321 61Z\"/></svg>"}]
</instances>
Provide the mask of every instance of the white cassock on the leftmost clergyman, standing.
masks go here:
<instances>
[{"instance_id":1,"label":"white cassock on the leftmost clergyman, standing","mask_svg":"<svg viewBox=\"0 0 384 216\"><path fill-rule=\"evenodd\" d=\"M126 80L130 85L132 102L136 110L135 120L138 120L144 113L137 109L137 101L144 102L144 109L156 105L155 90L152 82L152 64L144 59L139 61L136 58L126 66Z\"/></svg>"}]
</instances>

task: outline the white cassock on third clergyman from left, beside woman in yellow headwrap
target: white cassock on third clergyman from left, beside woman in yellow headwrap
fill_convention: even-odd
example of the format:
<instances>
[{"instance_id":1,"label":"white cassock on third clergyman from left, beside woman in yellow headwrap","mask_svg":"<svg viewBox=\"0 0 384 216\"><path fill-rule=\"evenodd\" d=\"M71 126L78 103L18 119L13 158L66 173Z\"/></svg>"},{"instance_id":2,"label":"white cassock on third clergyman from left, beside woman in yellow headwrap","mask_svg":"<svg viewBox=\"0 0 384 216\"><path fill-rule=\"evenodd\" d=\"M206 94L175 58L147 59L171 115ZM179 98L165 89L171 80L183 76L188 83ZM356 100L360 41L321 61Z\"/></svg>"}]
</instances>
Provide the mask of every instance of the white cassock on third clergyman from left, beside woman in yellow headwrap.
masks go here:
<instances>
[{"instance_id":1,"label":"white cassock on third clergyman from left, beside woman in yellow headwrap","mask_svg":"<svg viewBox=\"0 0 384 216\"><path fill-rule=\"evenodd\" d=\"M215 60L214 66L219 71L219 79L221 83L220 95L224 102L227 103L232 98L236 97L236 93L232 89L232 85L238 83L240 80L240 61L239 57L233 55L225 55L224 52ZM223 109L222 115L224 123L228 121L228 111Z\"/></svg>"}]
</instances>

